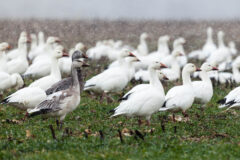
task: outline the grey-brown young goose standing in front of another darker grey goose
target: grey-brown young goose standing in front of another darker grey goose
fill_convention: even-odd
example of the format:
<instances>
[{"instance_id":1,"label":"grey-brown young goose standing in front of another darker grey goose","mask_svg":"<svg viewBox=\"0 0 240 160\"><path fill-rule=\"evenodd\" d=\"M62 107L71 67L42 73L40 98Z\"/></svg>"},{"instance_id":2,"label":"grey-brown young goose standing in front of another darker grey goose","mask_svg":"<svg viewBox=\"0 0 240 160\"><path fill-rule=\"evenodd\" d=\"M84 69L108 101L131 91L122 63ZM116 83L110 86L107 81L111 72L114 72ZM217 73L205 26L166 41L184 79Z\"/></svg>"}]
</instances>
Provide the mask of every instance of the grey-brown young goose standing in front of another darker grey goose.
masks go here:
<instances>
[{"instance_id":1,"label":"grey-brown young goose standing in front of another darker grey goose","mask_svg":"<svg viewBox=\"0 0 240 160\"><path fill-rule=\"evenodd\" d=\"M65 90L55 92L41 102L36 108L28 110L29 116L45 114L51 117L60 117L62 122L65 116L75 110L80 103L80 84L78 71L88 66L81 58L80 52L75 52L72 63L72 85Z\"/></svg>"}]
</instances>

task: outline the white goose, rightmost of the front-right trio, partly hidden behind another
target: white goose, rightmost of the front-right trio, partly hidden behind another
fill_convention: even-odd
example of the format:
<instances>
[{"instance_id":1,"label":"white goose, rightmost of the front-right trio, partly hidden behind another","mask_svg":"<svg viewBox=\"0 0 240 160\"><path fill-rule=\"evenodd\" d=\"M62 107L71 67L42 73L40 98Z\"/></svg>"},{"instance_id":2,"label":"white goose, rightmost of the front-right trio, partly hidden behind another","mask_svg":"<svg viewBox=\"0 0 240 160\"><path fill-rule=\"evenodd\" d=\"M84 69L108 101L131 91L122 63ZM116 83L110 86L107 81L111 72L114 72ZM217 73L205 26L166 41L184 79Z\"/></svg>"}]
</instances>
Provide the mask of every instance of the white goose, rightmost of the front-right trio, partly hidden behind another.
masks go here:
<instances>
[{"instance_id":1,"label":"white goose, rightmost of the front-right trio, partly hidden behind another","mask_svg":"<svg viewBox=\"0 0 240 160\"><path fill-rule=\"evenodd\" d=\"M205 62L202 64L201 70L200 77L202 81L194 81L192 82L192 86L195 95L195 102L206 104L211 100L213 95L212 82L207 72L218 69Z\"/></svg>"}]
</instances>

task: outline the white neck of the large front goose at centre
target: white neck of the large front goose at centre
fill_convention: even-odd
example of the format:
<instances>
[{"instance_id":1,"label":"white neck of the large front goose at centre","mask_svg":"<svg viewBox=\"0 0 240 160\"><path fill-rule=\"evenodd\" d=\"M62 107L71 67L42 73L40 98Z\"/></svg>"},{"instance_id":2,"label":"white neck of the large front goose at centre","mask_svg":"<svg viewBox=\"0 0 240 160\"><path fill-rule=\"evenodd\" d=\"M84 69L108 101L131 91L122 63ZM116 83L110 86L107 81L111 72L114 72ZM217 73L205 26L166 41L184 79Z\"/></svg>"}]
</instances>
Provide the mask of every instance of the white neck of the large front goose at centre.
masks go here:
<instances>
[{"instance_id":1,"label":"white neck of the large front goose at centre","mask_svg":"<svg viewBox=\"0 0 240 160\"><path fill-rule=\"evenodd\" d=\"M159 78L157 76L156 70L149 67L148 72L149 72L149 75L150 75L150 81L149 81L150 85L152 85L154 87L157 87L163 94L165 94L164 93L164 88L162 86L161 81L159 80Z\"/></svg>"}]
</instances>

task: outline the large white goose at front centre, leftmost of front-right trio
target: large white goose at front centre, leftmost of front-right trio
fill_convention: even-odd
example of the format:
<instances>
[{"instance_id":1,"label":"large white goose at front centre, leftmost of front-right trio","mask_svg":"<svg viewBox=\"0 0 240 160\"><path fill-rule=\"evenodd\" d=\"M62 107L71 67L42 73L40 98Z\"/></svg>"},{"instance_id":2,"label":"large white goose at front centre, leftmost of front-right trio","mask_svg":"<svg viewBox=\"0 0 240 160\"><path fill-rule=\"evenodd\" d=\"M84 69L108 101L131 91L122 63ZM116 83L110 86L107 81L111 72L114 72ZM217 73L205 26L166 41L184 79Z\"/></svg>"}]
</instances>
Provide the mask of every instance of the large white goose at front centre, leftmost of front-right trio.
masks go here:
<instances>
[{"instance_id":1,"label":"large white goose at front centre, leftmost of front-right trio","mask_svg":"<svg viewBox=\"0 0 240 160\"><path fill-rule=\"evenodd\" d=\"M164 89L156 72L162 66L160 62L151 64L148 68L150 84L133 89L132 92L125 95L119 106L113 110L114 114L111 117L119 115L145 117L149 125L151 115L157 112L164 103Z\"/></svg>"}]
</instances>

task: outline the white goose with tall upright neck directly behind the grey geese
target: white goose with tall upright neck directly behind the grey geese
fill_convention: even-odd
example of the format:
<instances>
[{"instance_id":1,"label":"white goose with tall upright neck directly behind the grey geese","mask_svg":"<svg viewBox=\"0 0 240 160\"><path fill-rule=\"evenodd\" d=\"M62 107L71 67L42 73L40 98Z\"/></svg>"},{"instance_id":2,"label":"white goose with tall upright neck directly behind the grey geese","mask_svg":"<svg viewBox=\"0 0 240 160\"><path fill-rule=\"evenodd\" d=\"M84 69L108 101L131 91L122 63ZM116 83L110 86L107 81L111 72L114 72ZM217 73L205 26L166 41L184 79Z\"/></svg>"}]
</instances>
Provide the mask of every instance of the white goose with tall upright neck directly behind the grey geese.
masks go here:
<instances>
[{"instance_id":1,"label":"white goose with tall upright neck directly behind the grey geese","mask_svg":"<svg viewBox=\"0 0 240 160\"><path fill-rule=\"evenodd\" d=\"M29 87L39 87L44 91L51 87L54 83L60 81L62 79L61 73L58 67L58 58L62 56L68 56L64 53L64 49L62 46L58 46L54 49L54 52L51 57L51 73L48 76L42 77L29 85Z\"/></svg>"}]
</instances>

